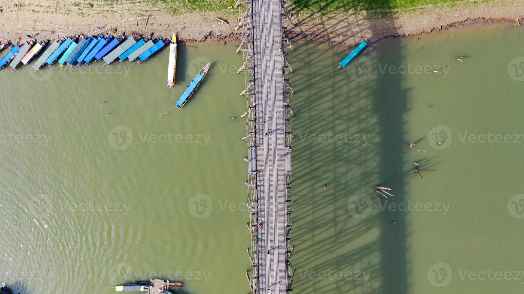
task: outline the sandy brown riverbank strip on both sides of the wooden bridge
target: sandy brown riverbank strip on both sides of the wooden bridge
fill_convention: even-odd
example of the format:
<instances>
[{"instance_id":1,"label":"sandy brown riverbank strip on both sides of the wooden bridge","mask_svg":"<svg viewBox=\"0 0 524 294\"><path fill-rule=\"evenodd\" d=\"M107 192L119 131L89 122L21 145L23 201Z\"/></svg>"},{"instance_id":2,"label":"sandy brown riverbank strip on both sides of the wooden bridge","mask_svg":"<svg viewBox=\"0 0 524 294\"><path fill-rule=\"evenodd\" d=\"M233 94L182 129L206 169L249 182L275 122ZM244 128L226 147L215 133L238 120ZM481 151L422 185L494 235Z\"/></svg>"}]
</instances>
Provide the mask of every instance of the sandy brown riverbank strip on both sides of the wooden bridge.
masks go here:
<instances>
[{"instance_id":1,"label":"sandy brown riverbank strip on both sides of the wooden bridge","mask_svg":"<svg viewBox=\"0 0 524 294\"><path fill-rule=\"evenodd\" d=\"M169 14L164 4L112 4L92 1L93 7L71 5L65 0L20 1L15 4L0 0L0 42L13 43L29 39L73 36L77 33L93 35L151 35L171 37L178 32L181 41L233 40L241 30L235 30L238 10L200 13ZM524 0L491 1L488 3L439 7L423 7L413 12L376 18L366 12L321 15L319 13L292 13L293 26L288 36L297 40L316 40L344 43L347 46L362 40L375 42L389 36L410 36L438 31L449 27L514 21L524 18ZM466 5L467 4L467 5ZM223 10L223 11L222 11ZM216 17L227 20L222 22ZM146 19L147 26L146 26ZM100 27L101 29L96 29Z\"/></svg>"}]
</instances>

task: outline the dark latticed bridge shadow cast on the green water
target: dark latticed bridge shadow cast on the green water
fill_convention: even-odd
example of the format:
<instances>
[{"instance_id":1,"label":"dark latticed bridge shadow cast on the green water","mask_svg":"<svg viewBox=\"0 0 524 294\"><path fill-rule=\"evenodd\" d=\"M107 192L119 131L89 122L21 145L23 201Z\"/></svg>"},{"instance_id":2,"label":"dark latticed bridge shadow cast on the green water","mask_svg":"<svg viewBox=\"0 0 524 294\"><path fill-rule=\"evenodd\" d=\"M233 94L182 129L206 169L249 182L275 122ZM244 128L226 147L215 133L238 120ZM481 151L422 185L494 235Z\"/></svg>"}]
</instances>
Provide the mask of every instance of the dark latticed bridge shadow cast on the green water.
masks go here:
<instances>
[{"instance_id":1,"label":"dark latticed bridge shadow cast on the green water","mask_svg":"<svg viewBox=\"0 0 524 294\"><path fill-rule=\"evenodd\" d=\"M353 48L315 37L293 42L293 291L409 293L409 219L383 208L409 193L409 89L402 75L379 70L403 63L402 42L368 46L342 70L337 63ZM380 197L377 184L395 196Z\"/></svg>"}]
</instances>

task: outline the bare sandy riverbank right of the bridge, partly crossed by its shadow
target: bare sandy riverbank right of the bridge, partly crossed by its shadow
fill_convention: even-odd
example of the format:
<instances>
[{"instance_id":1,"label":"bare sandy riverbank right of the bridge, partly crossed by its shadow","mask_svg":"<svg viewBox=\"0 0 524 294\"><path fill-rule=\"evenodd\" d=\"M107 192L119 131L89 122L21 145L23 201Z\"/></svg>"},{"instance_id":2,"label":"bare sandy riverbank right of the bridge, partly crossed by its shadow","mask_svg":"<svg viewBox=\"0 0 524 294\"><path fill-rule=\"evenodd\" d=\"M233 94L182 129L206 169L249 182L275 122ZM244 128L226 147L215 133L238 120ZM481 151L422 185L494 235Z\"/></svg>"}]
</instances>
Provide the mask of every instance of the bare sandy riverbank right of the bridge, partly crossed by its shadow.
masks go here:
<instances>
[{"instance_id":1,"label":"bare sandy riverbank right of the bridge, partly crossed by its shadow","mask_svg":"<svg viewBox=\"0 0 524 294\"><path fill-rule=\"evenodd\" d=\"M475 4L474 4L475 3ZM524 18L524 1L456 2L424 6L378 17L378 12L296 13L296 26L288 33L295 39L329 40L354 46L391 36L413 36L445 28L514 22Z\"/></svg>"}]
</instances>

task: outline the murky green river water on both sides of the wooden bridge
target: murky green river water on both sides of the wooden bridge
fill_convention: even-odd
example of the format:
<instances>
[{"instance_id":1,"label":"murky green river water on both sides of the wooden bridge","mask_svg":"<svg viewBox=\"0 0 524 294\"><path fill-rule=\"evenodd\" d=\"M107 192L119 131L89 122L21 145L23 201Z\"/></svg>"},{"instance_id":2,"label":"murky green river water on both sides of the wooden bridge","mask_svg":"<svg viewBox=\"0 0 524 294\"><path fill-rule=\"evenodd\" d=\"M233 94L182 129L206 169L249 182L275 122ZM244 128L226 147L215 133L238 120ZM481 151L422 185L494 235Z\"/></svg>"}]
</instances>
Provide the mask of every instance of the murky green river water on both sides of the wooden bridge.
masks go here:
<instances>
[{"instance_id":1,"label":"murky green river water on both sides of the wooden bridge","mask_svg":"<svg viewBox=\"0 0 524 294\"><path fill-rule=\"evenodd\" d=\"M521 291L522 37L505 24L389 38L343 70L347 48L295 44L294 293ZM233 42L187 45L171 91L167 50L140 65L0 71L1 281L249 292L242 56Z\"/></svg>"}]
</instances>

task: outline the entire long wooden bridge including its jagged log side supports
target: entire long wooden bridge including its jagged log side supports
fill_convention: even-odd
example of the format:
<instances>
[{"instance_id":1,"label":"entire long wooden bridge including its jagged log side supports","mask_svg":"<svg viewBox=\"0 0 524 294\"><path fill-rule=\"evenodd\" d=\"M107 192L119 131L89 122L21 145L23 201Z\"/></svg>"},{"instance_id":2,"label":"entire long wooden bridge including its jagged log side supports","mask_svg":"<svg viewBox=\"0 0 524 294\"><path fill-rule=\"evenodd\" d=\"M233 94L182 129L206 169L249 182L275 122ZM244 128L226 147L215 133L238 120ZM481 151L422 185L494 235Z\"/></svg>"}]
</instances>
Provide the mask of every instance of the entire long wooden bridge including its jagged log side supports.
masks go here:
<instances>
[{"instance_id":1,"label":"entire long wooden bridge including its jagged log side supports","mask_svg":"<svg viewBox=\"0 0 524 294\"><path fill-rule=\"evenodd\" d=\"M244 53L238 72L246 73L248 142L248 206L252 208L248 249L252 268L246 273L256 293L291 291L289 243L292 223L291 191L291 94L282 16L291 20L280 0L239 0L237 28L243 28L237 53ZM284 44L287 44L285 46Z\"/></svg>"}]
</instances>

